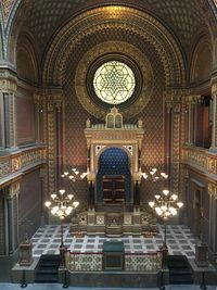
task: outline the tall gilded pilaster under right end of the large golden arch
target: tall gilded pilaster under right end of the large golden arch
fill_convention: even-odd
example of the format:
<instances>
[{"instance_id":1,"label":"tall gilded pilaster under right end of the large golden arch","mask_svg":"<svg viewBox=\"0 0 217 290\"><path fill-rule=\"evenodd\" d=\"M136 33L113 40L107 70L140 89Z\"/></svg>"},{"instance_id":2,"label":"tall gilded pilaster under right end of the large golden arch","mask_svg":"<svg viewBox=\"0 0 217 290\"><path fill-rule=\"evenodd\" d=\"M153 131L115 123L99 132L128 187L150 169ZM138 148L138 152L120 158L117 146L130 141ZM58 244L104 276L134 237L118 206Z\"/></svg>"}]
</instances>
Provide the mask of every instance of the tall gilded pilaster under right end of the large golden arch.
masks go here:
<instances>
[{"instance_id":1,"label":"tall gilded pilaster under right end of the large golden arch","mask_svg":"<svg viewBox=\"0 0 217 290\"><path fill-rule=\"evenodd\" d=\"M183 90L171 89L165 93L165 102L167 108L167 159L168 173L170 177L170 190L173 193L181 196L179 180L180 180L180 141L181 141L181 97ZM170 122L169 122L170 119Z\"/></svg>"}]
</instances>

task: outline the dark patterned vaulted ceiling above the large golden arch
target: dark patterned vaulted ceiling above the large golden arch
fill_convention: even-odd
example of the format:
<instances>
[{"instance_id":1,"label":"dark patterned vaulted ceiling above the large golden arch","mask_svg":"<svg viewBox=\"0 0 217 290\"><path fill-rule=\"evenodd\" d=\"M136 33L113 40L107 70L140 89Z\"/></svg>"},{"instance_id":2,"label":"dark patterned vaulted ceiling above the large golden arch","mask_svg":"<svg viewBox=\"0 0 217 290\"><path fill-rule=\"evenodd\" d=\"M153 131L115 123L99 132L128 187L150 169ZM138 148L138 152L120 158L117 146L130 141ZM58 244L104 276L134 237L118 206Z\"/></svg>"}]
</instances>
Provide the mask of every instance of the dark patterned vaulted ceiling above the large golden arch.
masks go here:
<instances>
[{"instance_id":1,"label":"dark patterned vaulted ceiling above the large golden arch","mask_svg":"<svg viewBox=\"0 0 217 290\"><path fill-rule=\"evenodd\" d=\"M102 2L99 0L3 0L2 4L5 11L4 22L8 21L10 23L10 17L13 17L13 14L15 14L15 7L17 8L17 3L21 2L14 27L20 28L22 25L28 27L29 33L35 36L42 55L53 35L58 33L61 26L79 13L105 4L129 5L150 13L175 35L183 49L188 50L196 33L202 27L203 29L207 28L208 21L213 20L210 5L208 4L209 1L107 0Z\"/></svg>"}]
</instances>

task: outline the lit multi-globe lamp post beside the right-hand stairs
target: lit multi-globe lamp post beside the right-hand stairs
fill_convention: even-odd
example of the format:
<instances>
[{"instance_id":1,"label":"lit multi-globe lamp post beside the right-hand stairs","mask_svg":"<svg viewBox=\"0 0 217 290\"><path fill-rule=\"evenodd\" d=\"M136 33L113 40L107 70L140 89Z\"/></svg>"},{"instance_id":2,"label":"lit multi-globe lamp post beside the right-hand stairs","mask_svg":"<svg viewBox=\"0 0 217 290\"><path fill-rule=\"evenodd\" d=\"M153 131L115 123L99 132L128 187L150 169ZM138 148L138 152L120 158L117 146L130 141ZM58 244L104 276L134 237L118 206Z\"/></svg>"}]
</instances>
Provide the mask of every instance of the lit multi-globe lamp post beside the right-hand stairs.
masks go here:
<instances>
[{"instance_id":1,"label":"lit multi-globe lamp post beside the right-hand stairs","mask_svg":"<svg viewBox=\"0 0 217 290\"><path fill-rule=\"evenodd\" d=\"M155 194L154 200L149 202L149 205L164 220L164 243L163 251L163 267L166 266L166 256L168 248L166 244L166 220L177 215L178 210L183 206L183 203L178 201L177 194L170 194L169 190L164 189L162 194Z\"/></svg>"}]
</instances>

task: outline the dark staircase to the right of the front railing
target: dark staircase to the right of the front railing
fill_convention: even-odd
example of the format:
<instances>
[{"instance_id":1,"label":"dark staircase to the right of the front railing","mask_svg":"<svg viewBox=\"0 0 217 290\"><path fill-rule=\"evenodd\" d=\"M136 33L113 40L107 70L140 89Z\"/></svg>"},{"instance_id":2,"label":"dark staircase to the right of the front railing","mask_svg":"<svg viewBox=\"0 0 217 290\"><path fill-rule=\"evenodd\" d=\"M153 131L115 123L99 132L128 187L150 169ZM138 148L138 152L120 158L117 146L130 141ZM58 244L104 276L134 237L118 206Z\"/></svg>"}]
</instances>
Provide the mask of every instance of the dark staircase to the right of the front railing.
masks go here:
<instances>
[{"instance_id":1,"label":"dark staircase to the right of the front railing","mask_svg":"<svg viewBox=\"0 0 217 290\"><path fill-rule=\"evenodd\" d=\"M168 255L169 283L193 283L193 273L186 255Z\"/></svg>"}]
</instances>

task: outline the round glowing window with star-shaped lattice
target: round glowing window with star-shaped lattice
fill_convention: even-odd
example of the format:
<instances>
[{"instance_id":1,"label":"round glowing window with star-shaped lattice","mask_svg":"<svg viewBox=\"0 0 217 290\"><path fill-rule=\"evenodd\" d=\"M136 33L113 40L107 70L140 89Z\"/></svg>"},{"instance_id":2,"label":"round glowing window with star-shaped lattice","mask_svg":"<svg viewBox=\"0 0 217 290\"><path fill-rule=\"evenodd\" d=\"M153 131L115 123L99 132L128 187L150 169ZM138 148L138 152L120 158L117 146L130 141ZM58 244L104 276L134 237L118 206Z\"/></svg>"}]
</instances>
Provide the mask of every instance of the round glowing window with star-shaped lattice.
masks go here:
<instances>
[{"instance_id":1,"label":"round glowing window with star-shaped lattice","mask_svg":"<svg viewBox=\"0 0 217 290\"><path fill-rule=\"evenodd\" d=\"M93 77L95 94L104 102L119 104L128 100L135 91L135 74L123 62L103 63Z\"/></svg>"}]
</instances>

